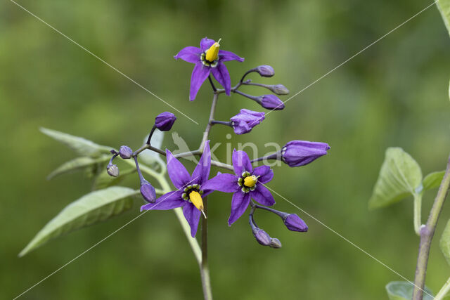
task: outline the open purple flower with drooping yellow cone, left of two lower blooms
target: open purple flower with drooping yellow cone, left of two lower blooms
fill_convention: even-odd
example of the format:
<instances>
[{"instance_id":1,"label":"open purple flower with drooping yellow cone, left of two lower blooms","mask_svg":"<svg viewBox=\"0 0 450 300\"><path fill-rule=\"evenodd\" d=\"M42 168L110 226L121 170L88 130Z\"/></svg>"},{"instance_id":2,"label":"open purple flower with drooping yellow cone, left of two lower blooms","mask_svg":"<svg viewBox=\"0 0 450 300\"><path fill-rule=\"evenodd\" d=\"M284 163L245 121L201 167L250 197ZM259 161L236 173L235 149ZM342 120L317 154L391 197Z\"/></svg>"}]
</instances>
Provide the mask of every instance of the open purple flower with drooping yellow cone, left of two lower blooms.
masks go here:
<instances>
[{"instance_id":1,"label":"open purple flower with drooping yellow cone, left of two lower blooms","mask_svg":"<svg viewBox=\"0 0 450 300\"><path fill-rule=\"evenodd\" d=\"M186 168L172 155L172 152L166 150L167 154L167 173L170 180L174 183L177 190L166 193L159 197L155 203L149 203L141 207L141 211L148 209L167 210L176 207L183 207L183 214L191 226L191 235L195 237L197 233L198 222L203 211L202 198L212 193L214 189L204 188L210 176L211 152L210 141L207 141L200 161L195 167L192 176L189 175Z\"/></svg>"}]
</instances>

